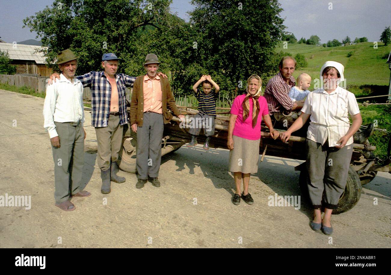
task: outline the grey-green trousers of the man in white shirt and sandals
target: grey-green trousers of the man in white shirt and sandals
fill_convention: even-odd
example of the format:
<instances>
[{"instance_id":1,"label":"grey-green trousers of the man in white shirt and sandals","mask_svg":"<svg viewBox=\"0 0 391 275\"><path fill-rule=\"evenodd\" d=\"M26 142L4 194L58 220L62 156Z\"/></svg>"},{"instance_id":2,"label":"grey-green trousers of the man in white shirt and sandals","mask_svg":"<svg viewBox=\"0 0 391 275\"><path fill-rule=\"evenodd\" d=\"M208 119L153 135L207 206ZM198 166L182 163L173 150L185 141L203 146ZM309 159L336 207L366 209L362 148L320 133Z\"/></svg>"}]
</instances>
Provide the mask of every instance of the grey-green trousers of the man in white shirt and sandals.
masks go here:
<instances>
[{"instance_id":1,"label":"grey-green trousers of the man in white shirt and sandals","mask_svg":"<svg viewBox=\"0 0 391 275\"><path fill-rule=\"evenodd\" d=\"M84 131L80 123L54 122L60 147L53 147L54 160L54 199L65 202L86 187L82 183L84 166Z\"/></svg>"}]
</instances>

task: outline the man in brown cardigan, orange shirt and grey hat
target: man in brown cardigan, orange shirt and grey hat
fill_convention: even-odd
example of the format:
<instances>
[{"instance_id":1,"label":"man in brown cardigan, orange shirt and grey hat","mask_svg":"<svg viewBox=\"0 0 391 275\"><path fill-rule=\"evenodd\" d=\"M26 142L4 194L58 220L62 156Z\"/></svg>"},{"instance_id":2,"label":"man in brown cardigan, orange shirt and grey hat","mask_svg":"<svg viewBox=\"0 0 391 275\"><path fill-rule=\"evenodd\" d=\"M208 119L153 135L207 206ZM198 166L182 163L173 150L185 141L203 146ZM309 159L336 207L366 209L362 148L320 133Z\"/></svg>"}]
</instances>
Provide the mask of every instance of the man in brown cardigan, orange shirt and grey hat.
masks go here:
<instances>
[{"instance_id":1,"label":"man in brown cardigan, orange shirt and grey hat","mask_svg":"<svg viewBox=\"0 0 391 275\"><path fill-rule=\"evenodd\" d=\"M185 118L176 107L169 81L156 75L159 64L155 54L147 54L143 64L147 74L136 78L133 85L130 124L137 133L136 188L143 188L147 180L160 186L161 139L164 124L172 118L169 110L180 119Z\"/></svg>"}]
</instances>

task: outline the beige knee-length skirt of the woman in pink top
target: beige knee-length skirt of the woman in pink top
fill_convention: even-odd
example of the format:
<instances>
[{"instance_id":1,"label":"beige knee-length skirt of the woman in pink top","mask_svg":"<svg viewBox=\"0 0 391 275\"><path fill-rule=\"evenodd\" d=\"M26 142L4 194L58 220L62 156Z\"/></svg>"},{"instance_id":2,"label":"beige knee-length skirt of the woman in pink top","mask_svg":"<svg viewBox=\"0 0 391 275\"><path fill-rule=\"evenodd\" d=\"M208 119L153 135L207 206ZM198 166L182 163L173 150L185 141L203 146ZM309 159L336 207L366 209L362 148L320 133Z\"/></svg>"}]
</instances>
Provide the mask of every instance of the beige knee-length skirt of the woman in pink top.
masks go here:
<instances>
[{"instance_id":1,"label":"beige knee-length skirt of the woman in pink top","mask_svg":"<svg viewBox=\"0 0 391 275\"><path fill-rule=\"evenodd\" d=\"M258 172L259 142L232 136L233 149L230 151L228 171L254 174Z\"/></svg>"}]
</instances>

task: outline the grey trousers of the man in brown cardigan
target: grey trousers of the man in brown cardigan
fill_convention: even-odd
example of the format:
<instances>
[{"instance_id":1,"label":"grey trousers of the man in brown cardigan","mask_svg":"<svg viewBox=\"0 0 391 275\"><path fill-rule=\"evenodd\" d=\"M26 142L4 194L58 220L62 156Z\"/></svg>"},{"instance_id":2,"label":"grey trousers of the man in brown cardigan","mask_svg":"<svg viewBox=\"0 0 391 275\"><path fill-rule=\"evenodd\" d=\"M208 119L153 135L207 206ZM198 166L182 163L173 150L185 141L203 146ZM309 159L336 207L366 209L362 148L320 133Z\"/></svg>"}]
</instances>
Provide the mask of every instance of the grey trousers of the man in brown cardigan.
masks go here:
<instances>
[{"instance_id":1,"label":"grey trousers of the man in brown cardigan","mask_svg":"<svg viewBox=\"0 0 391 275\"><path fill-rule=\"evenodd\" d=\"M158 177L161 162L161 139L163 138L163 115L145 112L143 126L137 126L137 178Z\"/></svg>"}]
</instances>

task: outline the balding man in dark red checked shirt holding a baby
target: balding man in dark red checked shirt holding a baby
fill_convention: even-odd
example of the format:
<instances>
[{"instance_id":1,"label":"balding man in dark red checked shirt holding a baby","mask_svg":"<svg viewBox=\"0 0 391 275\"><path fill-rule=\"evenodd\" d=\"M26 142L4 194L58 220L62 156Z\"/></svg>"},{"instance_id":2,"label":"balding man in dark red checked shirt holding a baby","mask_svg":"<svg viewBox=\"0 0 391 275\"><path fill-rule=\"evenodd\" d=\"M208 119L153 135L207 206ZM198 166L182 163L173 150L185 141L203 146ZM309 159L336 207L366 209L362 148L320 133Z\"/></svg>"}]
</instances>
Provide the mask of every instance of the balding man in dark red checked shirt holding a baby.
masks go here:
<instances>
[{"instance_id":1,"label":"balding man in dark red checked shirt holding a baby","mask_svg":"<svg viewBox=\"0 0 391 275\"><path fill-rule=\"evenodd\" d=\"M303 108L304 100L292 101L289 98L289 90L295 85L292 76L296 68L296 60L290 56L285 56L280 60L278 69L280 72L273 76L266 85L264 97L267 101L270 117L280 122L284 129L289 128L293 119L289 115L292 111L300 111Z\"/></svg>"}]
</instances>

